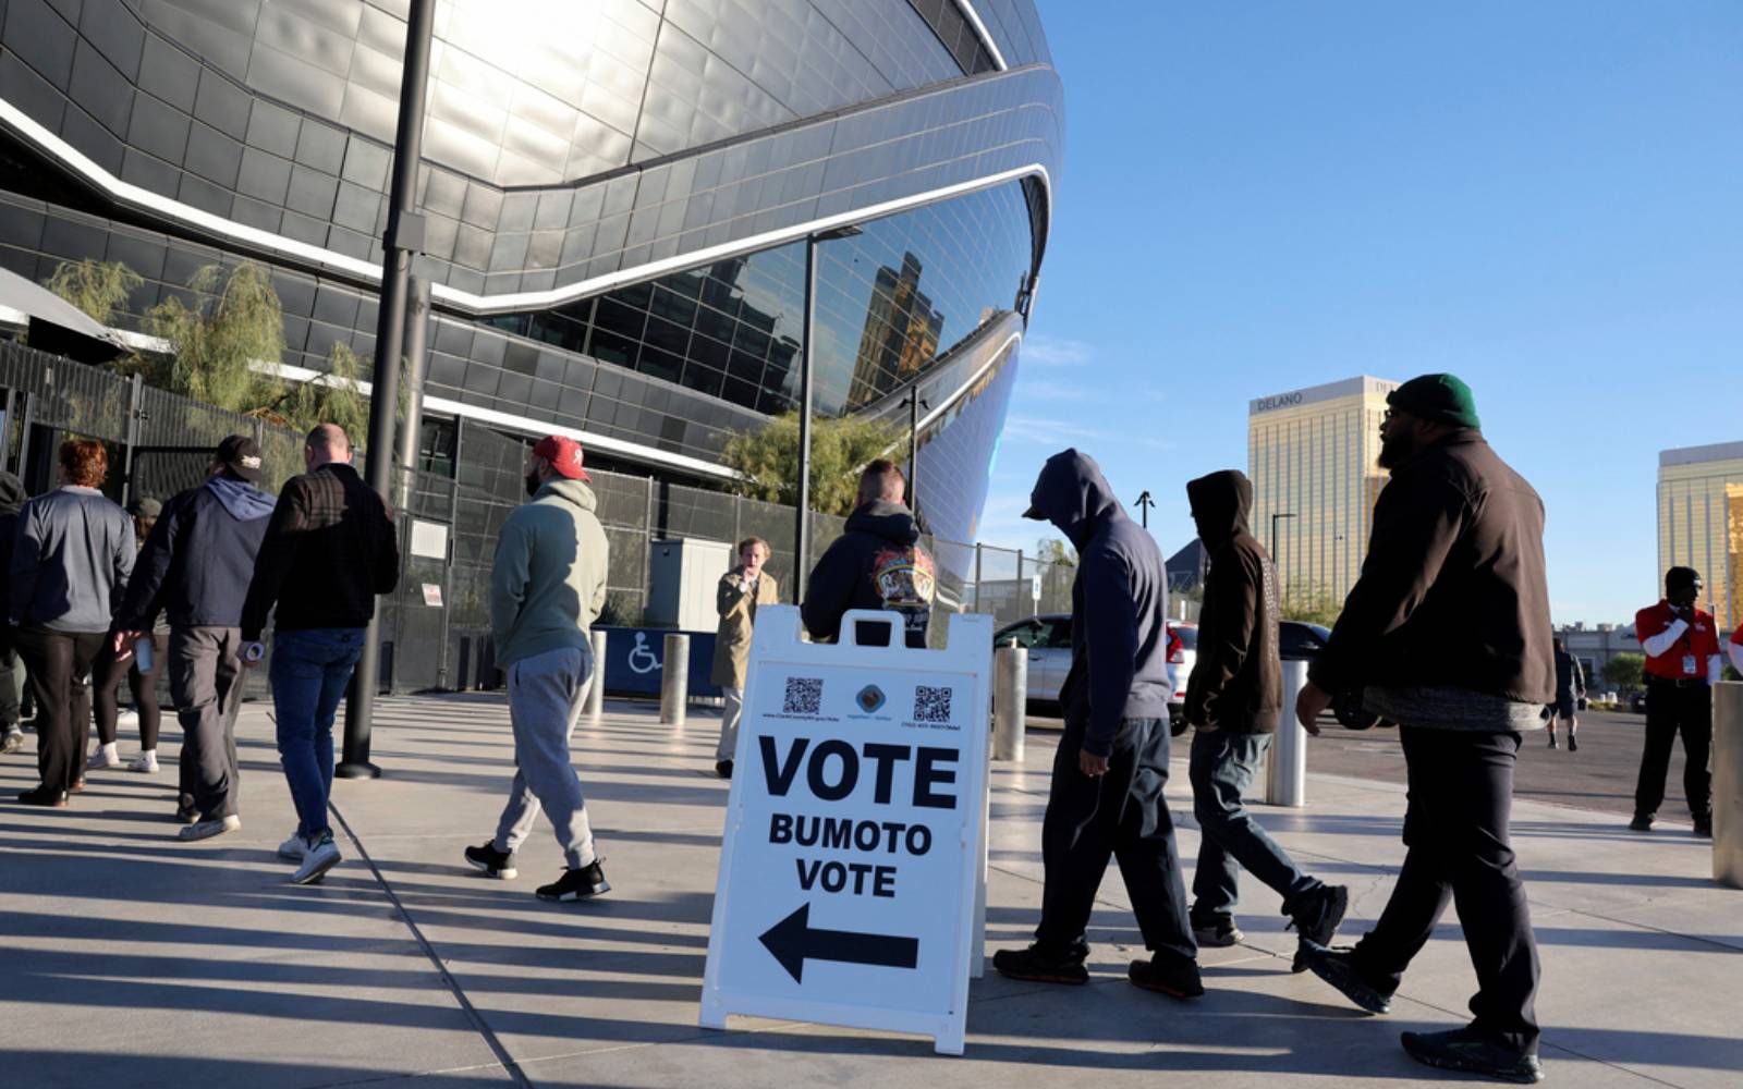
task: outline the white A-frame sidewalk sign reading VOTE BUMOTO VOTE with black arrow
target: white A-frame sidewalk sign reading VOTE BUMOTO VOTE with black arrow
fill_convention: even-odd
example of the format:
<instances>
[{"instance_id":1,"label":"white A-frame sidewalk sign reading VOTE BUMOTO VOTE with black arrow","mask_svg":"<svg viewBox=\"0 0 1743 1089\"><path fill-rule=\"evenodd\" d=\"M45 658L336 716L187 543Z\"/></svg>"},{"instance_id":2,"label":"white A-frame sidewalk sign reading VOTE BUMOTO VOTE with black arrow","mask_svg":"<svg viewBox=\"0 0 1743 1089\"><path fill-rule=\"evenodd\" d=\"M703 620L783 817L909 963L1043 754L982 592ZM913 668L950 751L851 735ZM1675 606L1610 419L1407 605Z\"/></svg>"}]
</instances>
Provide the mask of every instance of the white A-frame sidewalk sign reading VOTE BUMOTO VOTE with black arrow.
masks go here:
<instances>
[{"instance_id":1,"label":"white A-frame sidewalk sign reading VOTE BUMOTO VOTE with black arrow","mask_svg":"<svg viewBox=\"0 0 1743 1089\"><path fill-rule=\"evenodd\" d=\"M859 624L892 646L859 646ZM851 612L802 643L765 606L720 847L701 1023L727 1014L933 1037L962 1054L985 852L992 617L950 615L945 650L899 613Z\"/></svg>"}]
</instances>

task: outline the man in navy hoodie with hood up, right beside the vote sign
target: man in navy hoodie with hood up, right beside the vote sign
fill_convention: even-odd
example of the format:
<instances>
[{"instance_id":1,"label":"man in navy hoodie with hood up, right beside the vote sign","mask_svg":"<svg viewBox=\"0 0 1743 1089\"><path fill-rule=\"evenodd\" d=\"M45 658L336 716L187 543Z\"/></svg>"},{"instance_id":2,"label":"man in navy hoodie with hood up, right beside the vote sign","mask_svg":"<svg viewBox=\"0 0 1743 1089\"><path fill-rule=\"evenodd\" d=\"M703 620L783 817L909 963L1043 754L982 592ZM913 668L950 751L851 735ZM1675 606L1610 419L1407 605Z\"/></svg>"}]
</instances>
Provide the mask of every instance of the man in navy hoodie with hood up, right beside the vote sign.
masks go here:
<instances>
[{"instance_id":1,"label":"man in navy hoodie with hood up, right beside the vote sign","mask_svg":"<svg viewBox=\"0 0 1743 1089\"><path fill-rule=\"evenodd\" d=\"M1163 554L1126 517L1102 469L1075 450L1048 458L1028 498L1025 517L1053 523L1077 549L1072 667L1060 688L1065 737L1041 828L1041 925L1032 946L1000 950L994 967L1013 979L1088 983L1084 929L1112 856L1150 950L1128 977L1194 998L1204 984L1163 798L1173 693Z\"/></svg>"}]
</instances>

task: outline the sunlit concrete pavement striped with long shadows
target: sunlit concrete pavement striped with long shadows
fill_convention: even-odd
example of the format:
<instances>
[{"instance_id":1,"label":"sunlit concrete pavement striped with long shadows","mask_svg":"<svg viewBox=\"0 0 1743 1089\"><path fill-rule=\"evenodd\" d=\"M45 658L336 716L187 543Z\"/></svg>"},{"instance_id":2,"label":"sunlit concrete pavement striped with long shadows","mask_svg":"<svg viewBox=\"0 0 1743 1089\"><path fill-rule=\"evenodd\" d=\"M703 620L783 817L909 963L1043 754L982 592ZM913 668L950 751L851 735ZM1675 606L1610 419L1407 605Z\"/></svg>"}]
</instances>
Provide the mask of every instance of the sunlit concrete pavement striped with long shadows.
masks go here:
<instances>
[{"instance_id":1,"label":"sunlit concrete pavement striped with long shadows","mask_svg":"<svg viewBox=\"0 0 1743 1089\"><path fill-rule=\"evenodd\" d=\"M1206 950L1210 995L1138 991L1140 955L1110 873L1088 988L971 986L967 1054L926 1040L734 1019L695 1025L725 782L716 718L683 730L610 704L575 737L614 892L544 904L561 856L540 826L516 882L460 862L488 838L512 772L493 697L382 700L387 775L340 781L345 862L298 889L275 857L293 817L263 704L241 728L242 831L183 845L169 821L178 730L164 772L92 772L66 810L0 805L0 1084L120 1089L383 1086L1431 1086L1398 1032L1464 1019L1475 981L1454 917L1412 967L1387 1018L1292 976L1278 897L1248 882L1246 943ZM995 765L988 944L1028 941L1051 734L1023 767ZM124 749L131 746L124 741ZM31 786L30 751L0 761L3 798ZM1177 761L1180 847L1197 849ZM1258 807L1304 868L1351 885L1360 936L1403 857L1401 789L1312 775L1311 807ZM1607 814L1536 802L1515 810L1544 986L1548 1077L1567 1086L1738 1086L1743 892L1710 880L1685 826L1638 836ZM1457 1080L1457 1079L1452 1079Z\"/></svg>"}]
</instances>

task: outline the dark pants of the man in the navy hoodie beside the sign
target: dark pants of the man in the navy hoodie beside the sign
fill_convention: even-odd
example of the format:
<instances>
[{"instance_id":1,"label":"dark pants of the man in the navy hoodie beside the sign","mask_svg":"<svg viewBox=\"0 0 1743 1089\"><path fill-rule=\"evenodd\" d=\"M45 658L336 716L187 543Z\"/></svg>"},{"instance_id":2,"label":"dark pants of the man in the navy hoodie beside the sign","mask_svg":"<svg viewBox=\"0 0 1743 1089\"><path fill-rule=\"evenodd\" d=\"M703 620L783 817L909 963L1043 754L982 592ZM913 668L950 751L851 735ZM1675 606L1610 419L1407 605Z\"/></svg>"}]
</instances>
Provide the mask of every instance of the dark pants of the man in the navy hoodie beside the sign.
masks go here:
<instances>
[{"instance_id":1,"label":"dark pants of the man in the navy hoodie beside the sign","mask_svg":"<svg viewBox=\"0 0 1743 1089\"><path fill-rule=\"evenodd\" d=\"M1121 723L1109 770L1098 779L1077 767L1082 737L1081 725L1067 725L1053 756L1053 789L1041 826L1046 885L1035 941L1063 950L1082 939L1109 857L1117 857L1143 946L1164 957L1196 958L1175 824L1163 798L1168 720Z\"/></svg>"}]
</instances>

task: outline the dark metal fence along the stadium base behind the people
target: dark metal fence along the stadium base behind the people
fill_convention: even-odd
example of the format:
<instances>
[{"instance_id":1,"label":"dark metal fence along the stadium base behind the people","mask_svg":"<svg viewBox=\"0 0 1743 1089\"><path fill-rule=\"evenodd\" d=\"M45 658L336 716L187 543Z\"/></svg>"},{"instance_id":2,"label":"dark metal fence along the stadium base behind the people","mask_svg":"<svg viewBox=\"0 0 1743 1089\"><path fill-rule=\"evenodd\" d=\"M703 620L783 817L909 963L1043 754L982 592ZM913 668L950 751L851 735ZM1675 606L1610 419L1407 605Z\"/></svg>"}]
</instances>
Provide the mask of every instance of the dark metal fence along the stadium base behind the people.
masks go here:
<instances>
[{"instance_id":1,"label":"dark metal fence along the stadium base behind the people","mask_svg":"<svg viewBox=\"0 0 1743 1089\"><path fill-rule=\"evenodd\" d=\"M302 472L303 436L145 385L101 368L0 343L3 429L0 469L31 495L54 486L54 457L70 436L108 444L105 491L117 502L169 498L206 481L213 448L230 434L253 436L265 457L263 483L275 490ZM396 690L476 688L495 678L490 646L490 565L502 521L525 502L523 472L533 439L460 420L443 467L403 470L394 497L403 572L382 599L383 681ZM363 457L357 458L363 470ZM612 556L600 624L641 627L648 606L654 542L746 537L769 542L769 572L793 601L793 509L652 477L593 470L598 517ZM845 519L810 516L812 556L845 530ZM1018 551L922 537L936 566L934 613L988 613L999 626L1035 613L1068 613L1075 568ZM945 624L933 624L943 638Z\"/></svg>"}]
</instances>

